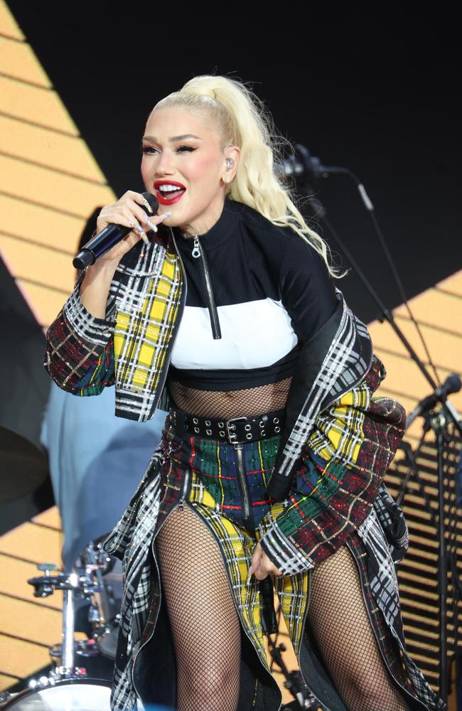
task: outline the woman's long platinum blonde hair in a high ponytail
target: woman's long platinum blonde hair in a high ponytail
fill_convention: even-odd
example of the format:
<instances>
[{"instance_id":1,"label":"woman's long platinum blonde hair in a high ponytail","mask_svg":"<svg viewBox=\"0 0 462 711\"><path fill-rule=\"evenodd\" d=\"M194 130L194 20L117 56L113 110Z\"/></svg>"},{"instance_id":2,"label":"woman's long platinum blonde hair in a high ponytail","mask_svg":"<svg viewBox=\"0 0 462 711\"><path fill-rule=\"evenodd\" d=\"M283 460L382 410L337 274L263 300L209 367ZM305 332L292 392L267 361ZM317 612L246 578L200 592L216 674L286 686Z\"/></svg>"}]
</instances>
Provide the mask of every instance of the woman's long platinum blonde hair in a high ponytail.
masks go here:
<instances>
[{"instance_id":1,"label":"woman's long platinum blonde hair in a high ponytail","mask_svg":"<svg viewBox=\"0 0 462 711\"><path fill-rule=\"evenodd\" d=\"M171 106L212 117L222 149L240 147L237 173L227 186L227 197L249 205L274 225L290 227L323 257L331 276L338 277L337 269L329 264L328 245L308 227L289 187L274 171L274 159L279 159L281 147L290 144L276 133L272 117L257 95L230 77L203 75L161 99L153 111Z\"/></svg>"}]
</instances>

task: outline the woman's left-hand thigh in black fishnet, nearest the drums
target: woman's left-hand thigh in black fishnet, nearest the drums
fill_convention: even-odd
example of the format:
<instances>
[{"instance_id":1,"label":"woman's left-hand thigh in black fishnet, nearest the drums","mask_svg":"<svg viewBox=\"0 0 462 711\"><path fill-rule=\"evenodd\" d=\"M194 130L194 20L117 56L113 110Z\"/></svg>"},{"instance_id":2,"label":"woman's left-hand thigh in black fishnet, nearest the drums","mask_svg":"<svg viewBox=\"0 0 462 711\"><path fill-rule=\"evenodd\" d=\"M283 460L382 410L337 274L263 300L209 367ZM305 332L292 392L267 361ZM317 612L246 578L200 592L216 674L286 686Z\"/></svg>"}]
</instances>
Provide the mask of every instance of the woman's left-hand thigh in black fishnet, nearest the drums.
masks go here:
<instances>
[{"instance_id":1,"label":"woman's left-hand thigh in black fishnet, nearest the drums","mask_svg":"<svg viewBox=\"0 0 462 711\"><path fill-rule=\"evenodd\" d=\"M220 550L198 515L176 508L156 537L177 661L178 711L235 711L240 621Z\"/></svg>"}]
</instances>

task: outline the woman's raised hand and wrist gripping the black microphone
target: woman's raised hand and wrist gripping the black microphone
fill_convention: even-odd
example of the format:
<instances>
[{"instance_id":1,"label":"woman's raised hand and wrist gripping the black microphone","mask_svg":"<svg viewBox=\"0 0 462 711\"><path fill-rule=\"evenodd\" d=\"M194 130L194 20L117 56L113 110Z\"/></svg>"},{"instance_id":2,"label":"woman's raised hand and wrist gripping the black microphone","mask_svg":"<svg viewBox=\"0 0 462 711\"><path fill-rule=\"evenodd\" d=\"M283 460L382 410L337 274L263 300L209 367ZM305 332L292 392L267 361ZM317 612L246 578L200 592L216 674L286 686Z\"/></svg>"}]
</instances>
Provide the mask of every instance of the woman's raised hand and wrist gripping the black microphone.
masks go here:
<instances>
[{"instance_id":1,"label":"woman's raised hand and wrist gripping the black microphone","mask_svg":"<svg viewBox=\"0 0 462 711\"><path fill-rule=\"evenodd\" d=\"M156 225L159 225L167 217L166 213L152 215L150 210L149 203L146 202L141 193L135 193L133 190L127 190L127 193L124 193L122 198L119 198L114 205L105 205L102 208L96 221L97 234L100 234L110 224L124 225L124 227L133 229L111 250L105 252L98 260L98 264L112 262L117 266L122 257L131 250L131 247L136 245L136 242L144 240L148 244L146 232L149 232L149 230L156 232Z\"/></svg>"}]
</instances>

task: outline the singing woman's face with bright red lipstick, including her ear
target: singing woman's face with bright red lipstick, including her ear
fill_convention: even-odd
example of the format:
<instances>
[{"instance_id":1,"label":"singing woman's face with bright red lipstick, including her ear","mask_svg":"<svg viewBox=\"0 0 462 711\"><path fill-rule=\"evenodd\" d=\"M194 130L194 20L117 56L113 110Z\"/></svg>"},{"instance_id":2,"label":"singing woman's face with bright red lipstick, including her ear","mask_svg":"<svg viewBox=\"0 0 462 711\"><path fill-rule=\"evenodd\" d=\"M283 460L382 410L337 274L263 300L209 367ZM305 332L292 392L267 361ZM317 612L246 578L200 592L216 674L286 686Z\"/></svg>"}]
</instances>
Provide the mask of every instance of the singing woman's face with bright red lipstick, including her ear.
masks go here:
<instances>
[{"instance_id":1,"label":"singing woman's face with bright red lipstick, including her ear","mask_svg":"<svg viewBox=\"0 0 462 711\"><path fill-rule=\"evenodd\" d=\"M227 170L226 159L235 165ZM239 149L220 147L213 123L183 107L151 113L143 137L141 175L159 200L159 215L171 210L164 224L188 235L201 235L215 225L225 201L225 176L232 179Z\"/></svg>"}]
</instances>

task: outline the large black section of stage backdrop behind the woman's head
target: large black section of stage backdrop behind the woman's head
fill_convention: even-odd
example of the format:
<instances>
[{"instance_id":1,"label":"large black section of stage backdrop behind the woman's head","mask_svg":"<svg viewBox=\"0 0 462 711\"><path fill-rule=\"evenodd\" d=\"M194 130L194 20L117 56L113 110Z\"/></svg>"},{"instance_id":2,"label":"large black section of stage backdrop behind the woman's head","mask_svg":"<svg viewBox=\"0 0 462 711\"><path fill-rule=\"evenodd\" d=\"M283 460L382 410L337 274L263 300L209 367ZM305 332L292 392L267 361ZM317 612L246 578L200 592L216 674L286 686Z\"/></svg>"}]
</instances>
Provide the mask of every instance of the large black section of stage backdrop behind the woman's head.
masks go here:
<instances>
[{"instance_id":1,"label":"large black section of stage backdrop behind the woman's head","mask_svg":"<svg viewBox=\"0 0 462 711\"><path fill-rule=\"evenodd\" d=\"M206 23L200 5L173 14L135 3L120 14L83 2L64 22L55 3L8 4L118 196L143 189L140 139L156 100L193 75L232 75L253 83L283 135L360 177L409 297L461 268L450 18L385 9L370 21L270 14L252 22L233 11L222 23L212 11ZM399 304L354 186L329 178L316 189L387 306ZM354 275L340 288L363 320L377 316Z\"/></svg>"}]
</instances>

